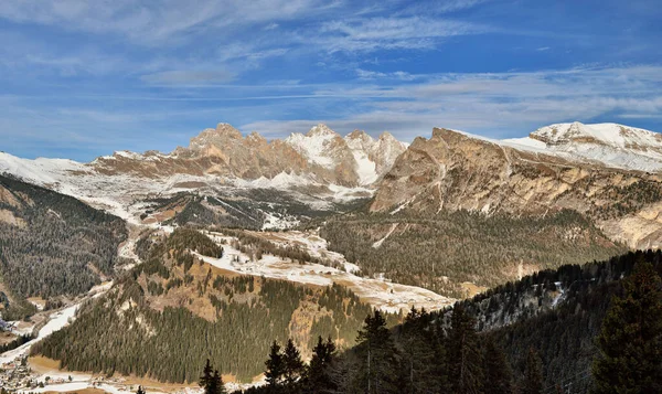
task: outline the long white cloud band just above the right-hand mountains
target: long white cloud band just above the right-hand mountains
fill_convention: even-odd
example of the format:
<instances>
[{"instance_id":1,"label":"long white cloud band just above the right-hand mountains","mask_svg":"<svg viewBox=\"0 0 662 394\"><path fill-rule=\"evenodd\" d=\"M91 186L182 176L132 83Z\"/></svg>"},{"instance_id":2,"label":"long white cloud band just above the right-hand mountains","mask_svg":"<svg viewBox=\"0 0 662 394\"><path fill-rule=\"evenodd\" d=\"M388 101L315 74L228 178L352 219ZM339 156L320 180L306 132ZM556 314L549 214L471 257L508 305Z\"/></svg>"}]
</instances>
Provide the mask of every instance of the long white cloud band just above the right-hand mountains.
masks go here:
<instances>
[{"instance_id":1,"label":"long white cloud band just above the right-hand mountains","mask_svg":"<svg viewBox=\"0 0 662 394\"><path fill-rule=\"evenodd\" d=\"M361 73L359 73L361 76ZM375 82L384 75L366 72ZM533 73L444 74L407 84L325 86L319 99L352 103L349 115L328 119L340 132L392 131L410 140L433 127L492 137L521 137L553 123L610 116L612 121L662 117L662 66L573 68ZM287 135L316 121L255 121L247 129ZM658 130L662 131L662 130Z\"/></svg>"}]
</instances>

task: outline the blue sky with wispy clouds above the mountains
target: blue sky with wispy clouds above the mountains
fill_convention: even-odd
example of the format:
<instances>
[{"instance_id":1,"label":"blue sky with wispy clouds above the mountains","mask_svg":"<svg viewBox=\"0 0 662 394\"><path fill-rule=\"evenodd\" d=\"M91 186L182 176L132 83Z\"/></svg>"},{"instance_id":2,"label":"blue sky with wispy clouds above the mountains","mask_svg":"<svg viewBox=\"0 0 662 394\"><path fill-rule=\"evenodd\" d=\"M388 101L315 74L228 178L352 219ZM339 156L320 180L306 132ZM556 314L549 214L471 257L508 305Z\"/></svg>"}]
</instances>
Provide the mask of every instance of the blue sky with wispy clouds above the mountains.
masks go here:
<instances>
[{"instance_id":1,"label":"blue sky with wispy clouds above the mountains","mask_svg":"<svg viewBox=\"0 0 662 394\"><path fill-rule=\"evenodd\" d=\"M403 140L662 131L659 1L0 2L0 150L171 151L217 123Z\"/></svg>"}]
</instances>

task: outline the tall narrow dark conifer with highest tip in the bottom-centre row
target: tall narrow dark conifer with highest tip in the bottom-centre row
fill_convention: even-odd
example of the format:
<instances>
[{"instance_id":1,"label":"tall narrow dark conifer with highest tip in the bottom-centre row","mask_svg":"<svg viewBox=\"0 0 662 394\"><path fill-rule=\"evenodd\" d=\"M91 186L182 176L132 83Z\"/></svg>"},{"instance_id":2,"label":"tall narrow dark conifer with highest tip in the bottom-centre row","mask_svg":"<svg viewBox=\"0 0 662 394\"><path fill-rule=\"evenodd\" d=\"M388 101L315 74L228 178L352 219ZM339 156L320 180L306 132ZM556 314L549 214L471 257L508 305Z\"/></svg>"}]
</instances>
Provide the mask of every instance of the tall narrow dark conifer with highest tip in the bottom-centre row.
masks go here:
<instances>
[{"instance_id":1,"label":"tall narrow dark conifer with highest tip in the bottom-centre row","mask_svg":"<svg viewBox=\"0 0 662 394\"><path fill-rule=\"evenodd\" d=\"M452 309L448 338L449 377L452 393L482 393L482 354L476 321L457 304Z\"/></svg>"}]
</instances>

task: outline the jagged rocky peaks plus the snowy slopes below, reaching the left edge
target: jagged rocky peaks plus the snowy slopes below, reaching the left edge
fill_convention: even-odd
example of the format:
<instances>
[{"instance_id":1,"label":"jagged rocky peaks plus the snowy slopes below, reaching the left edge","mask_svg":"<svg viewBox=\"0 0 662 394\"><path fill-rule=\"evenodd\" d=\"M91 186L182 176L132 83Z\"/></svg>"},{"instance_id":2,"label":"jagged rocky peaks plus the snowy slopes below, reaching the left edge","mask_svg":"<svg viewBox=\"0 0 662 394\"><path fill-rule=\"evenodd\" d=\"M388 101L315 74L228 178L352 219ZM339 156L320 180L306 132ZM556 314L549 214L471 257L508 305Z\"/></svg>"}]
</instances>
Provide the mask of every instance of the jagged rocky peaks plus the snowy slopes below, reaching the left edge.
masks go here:
<instances>
[{"instance_id":1,"label":"jagged rocky peaks plus the snowy slopes below, reaching the left edge","mask_svg":"<svg viewBox=\"0 0 662 394\"><path fill-rule=\"evenodd\" d=\"M192 193L225 200L214 206L203 201L204 206L188 210L194 211L189 216L248 219L250 226L279 227L286 225L279 223L286 216L288 223L296 222L292 212L335 211L338 204L370 198L406 147L387 132L374 139L356 130L343 138L318 125L306 135L267 141L257 132L244 137L220 124L171 153L117 151L79 163L0 152L0 173L75 196L136 224L143 222L146 211L160 206L151 200ZM170 219L184 207L147 219Z\"/></svg>"}]
</instances>

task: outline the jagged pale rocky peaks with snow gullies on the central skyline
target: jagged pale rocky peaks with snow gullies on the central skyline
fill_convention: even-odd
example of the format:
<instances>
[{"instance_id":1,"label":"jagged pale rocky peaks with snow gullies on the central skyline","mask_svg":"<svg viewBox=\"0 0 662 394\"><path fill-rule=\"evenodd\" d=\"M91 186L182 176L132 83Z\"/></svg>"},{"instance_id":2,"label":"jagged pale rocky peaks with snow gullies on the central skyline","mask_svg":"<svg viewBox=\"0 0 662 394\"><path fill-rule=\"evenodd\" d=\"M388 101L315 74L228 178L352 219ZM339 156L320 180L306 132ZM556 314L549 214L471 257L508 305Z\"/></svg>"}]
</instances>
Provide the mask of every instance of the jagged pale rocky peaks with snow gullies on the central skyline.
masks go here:
<instances>
[{"instance_id":1,"label":"jagged pale rocky peaks with snow gullies on the central skyline","mask_svg":"<svg viewBox=\"0 0 662 394\"><path fill-rule=\"evenodd\" d=\"M374 140L356 130L343 138L325 125L318 125L306 135L267 141L257 132L243 137L231 125L218 124L192 138L188 148L180 147L168 155L116 152L89 166L104 174L215 175L246 181L276 179L276 183L280 175L299 178L301 183L354 188L374 183L405 149L388 134Z\"/></svg>"}]
</instances>

